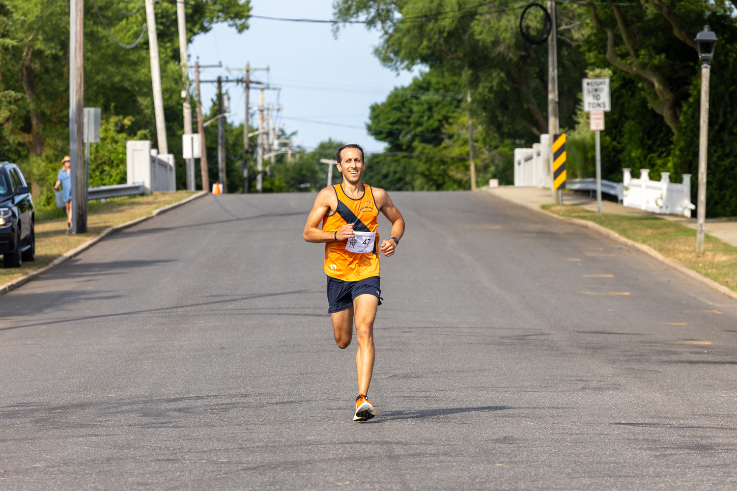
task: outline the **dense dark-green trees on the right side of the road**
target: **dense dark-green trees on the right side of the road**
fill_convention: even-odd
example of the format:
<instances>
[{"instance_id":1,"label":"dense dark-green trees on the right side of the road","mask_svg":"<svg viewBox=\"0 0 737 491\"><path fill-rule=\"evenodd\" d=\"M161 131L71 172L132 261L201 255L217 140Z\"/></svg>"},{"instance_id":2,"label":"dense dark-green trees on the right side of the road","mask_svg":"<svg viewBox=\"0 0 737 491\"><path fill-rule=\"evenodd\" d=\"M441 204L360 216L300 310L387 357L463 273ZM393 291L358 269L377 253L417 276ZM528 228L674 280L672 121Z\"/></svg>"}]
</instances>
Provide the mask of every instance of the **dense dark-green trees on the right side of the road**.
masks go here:
<instances>
[{"instance_id":1,"label":"dense dark-green trees on the right side of the road","mask_svg":"<svg viewBox=\"0 0 737 491\"><path fill-rule=\"evenodd\" d=\"M509 183L511 149L530 146L548 133L547 46L520 35L525 5L511 0L335 0L336 20L360 19L368 29L379 30L375 54L385 66L423 71L407 88L371 108L367 128L374 138L388 149L460 153L461 123L470 114L480 133L474 145L482 164L492 169L481 172L479 183L491 174ZM556 3L559 117L573 137L574 177L593 172L593 135L581 110L581 78L602 72L610 74L613 103L602 135L604 177L620 180L623 167L635 174L652 169L654 178L671 172L674 180L696 174L700 76L694 37L709 24L719 43L712 63L708 213L737 215L737 197L731 192L737 162L730 150L737 131L730 82L737 75L736 7L737 2L724 0ZM400 103L402 90L469 92L472 102L422 107ZM438 135L433 139L421 132ZM467 151L467 133L465 145ZM401 165L413 176L412 184L407 177L397 178L397 188L433 187L417 178L425 167L422 159ZM455 188L460 166L446 162L444 167L450 177L439 188Z\"/></svg>"}]
</instances>

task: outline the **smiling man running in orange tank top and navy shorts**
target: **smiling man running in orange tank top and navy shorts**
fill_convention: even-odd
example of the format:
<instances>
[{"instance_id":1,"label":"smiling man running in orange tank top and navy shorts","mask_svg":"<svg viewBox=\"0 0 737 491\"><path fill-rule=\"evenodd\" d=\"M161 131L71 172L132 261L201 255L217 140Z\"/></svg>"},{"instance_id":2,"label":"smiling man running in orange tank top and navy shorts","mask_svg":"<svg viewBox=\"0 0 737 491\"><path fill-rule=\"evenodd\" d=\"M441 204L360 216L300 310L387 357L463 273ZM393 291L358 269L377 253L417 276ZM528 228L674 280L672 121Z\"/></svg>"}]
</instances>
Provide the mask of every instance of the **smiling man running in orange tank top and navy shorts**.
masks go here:
<instances>
[{"instance_id":1,"label":"smiling man running in orange tank top and navy shorts","mask_svg":"<svg viewBox=\"0 0 737 491\"><path fill-rule=\"evenodd\" d=\"M335 160L343 182L320 191L304 226L304 240L325 242L328 312L340 349L351 344L355 321L358 397L353 420L366 421L376 416L366 394L374 371L374 319L381 305L379 250L386 257L394 254L405 221L386 191L361 183L366 165L360 146L341 146ZM377 249L379 211L391 222L391 237Z\"/></svg>"}]
</instances>

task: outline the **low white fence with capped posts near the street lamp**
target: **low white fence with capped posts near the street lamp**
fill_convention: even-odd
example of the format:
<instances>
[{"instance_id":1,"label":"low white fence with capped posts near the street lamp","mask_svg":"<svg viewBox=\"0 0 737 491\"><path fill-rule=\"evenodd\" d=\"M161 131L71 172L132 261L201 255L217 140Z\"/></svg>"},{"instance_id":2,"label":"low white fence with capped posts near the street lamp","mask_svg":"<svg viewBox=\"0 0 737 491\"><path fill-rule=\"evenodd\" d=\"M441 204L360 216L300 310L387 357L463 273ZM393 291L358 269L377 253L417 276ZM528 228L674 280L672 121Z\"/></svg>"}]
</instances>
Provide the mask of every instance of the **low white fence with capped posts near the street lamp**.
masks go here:
<instances>
[{"instance_id":1,"label":"low white fence with capped posts near the street lamp","mask_svg":"<svg viewBox=\"0 0 737 491\"><path fill-rule=\"evenodd\" d=\"M624 202L629 208L691 218L691 174L683 174L683 183L671 183L670 172L660 172L660 180L650 180L649 169L640 169L640 179L634 179L631 169L624 171Z\"/></svg>"}]
</instances>

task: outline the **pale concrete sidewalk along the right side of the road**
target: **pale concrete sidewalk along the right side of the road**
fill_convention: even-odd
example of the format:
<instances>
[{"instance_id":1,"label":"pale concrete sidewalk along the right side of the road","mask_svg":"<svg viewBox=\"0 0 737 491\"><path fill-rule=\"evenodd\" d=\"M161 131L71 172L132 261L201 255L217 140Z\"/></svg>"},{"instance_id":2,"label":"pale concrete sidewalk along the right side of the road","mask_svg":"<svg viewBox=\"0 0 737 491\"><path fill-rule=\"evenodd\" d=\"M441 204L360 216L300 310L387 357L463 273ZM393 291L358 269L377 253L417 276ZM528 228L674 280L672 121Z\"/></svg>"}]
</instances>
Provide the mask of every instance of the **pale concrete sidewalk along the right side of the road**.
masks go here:
<instances>
[{"instance_id":1,"label":"pale concrete sidewalk along the right side of the road","mask_svg":"<svg viewBox=\"0 0 737 491\"><path fill-rule=\"evenodd\" d=\"M526 206L527 208L539 209L542 205L553 203L551 190L545 188L515 188L514 186L500 186L498 188L483 188L484 191L494 194L503 199L517 203L517 205ZM587 197L585 194L563 192L563 204L580 206L589 211L596 211L596 199ZM671 222L680 223L681 225L696 230L696 219L686 218L682 215L657 215L649 211L638 210L637 208L627 208L619 203L611 201L601 201L601 212L612 213L614 215L651 215L660 216L660 218ZM729 219L707 219L706 233L717 239L722 239L727 244L737 246L737 222Z\"/></svg>"}]
</instances>

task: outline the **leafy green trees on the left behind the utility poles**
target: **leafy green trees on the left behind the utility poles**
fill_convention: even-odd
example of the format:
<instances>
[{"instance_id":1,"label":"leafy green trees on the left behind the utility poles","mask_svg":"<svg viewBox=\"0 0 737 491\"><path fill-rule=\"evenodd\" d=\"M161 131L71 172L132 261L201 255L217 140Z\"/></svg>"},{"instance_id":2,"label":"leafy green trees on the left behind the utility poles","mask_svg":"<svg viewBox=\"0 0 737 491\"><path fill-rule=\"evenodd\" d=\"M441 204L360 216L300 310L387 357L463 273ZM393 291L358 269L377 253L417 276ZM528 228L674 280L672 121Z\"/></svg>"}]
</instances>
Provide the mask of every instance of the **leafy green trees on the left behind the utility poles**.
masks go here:
<instances>
[{"instance_id":1,"label":"leafy green trees on the left behind the utility poles","mask_svg":"<svg viewBox=\"0 0 737 491\"><path fill-rule=\"evenodd\" d=\"M217 22L228 22L242 32L248 28L250 9L248 0L188 2L188 38L208 32ZM180 138L184 84L175 2L156 2L155 11L167 137L181 188L185 179ZM156 135L147 36L133 49L116 43L133 43L142 34L143 24L145 12L137 1L85 2L85 106L111 113L114 105L117 115L132 116L125 127L130 138L144 130ZM5 63L0 66L0 158L17 162L28 174L42 167L55 168L69 152L68 51L69 2L1 1L0 52Z\"/></svg>"}]
</instances>

